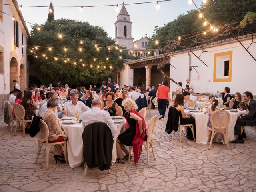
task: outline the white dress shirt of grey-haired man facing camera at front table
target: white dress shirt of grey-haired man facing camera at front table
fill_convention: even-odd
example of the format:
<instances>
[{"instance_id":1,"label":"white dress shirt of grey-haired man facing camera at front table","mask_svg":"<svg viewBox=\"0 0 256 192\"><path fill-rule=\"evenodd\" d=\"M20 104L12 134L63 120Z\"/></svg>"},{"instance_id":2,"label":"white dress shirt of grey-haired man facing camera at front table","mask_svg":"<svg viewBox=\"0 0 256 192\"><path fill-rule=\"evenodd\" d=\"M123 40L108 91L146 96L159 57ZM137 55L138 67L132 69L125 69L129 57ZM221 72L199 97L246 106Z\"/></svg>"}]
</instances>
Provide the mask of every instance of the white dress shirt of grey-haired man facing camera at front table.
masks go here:
<instances>
[{"instance_id":1,"label":"white dress shirt of grey-haired man facing camera at front table","mask_svg":"<svg viewBox=\"0 0 256 192\"><path fill-rule=\"evenodd\" d=\"M68 102L64 106L64 110L67 111L67 115L63 115L65 117L75 117L76 113L82 114L85 111L91 110L90 107L86 106L82 101L78 101L76 105L72 103L72 101Z\"/></svg>"}]
</instances>

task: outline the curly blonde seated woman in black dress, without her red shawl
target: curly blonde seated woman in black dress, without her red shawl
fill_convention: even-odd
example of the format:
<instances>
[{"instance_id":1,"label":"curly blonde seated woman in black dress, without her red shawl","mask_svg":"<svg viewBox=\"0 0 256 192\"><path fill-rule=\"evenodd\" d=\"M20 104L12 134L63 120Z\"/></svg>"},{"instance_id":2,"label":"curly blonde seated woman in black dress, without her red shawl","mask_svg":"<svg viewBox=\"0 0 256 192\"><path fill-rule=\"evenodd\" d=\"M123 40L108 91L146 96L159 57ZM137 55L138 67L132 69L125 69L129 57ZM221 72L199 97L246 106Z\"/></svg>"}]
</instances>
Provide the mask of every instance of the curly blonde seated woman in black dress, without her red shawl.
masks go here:
<instances>
[{"instance_id":1,"label":"curly blonde seated woman in black dress, without her red shawl","mask_svg":"<svg viewBox=\"0 0 256 192\"><path fill-rule=\"evenodd\" d=\"M122 106L124 106L124 109L128 113L126 117L126 124L129 124L129 128L127 128L125 132L120 134L116 139L116 149L119 156L119 158L116 160L116 163L124 163L124 161L129 157L129 152L125 145L132 146L132 141L136 135L136 121L138 121L139 124L140 134L143 133L142 118L131 112L132 110L136 110L138 108L136 103L131 99L125 99L122 102ZM125 156L123 155L122 150L125 152Z\"/></svg>"}]
</instances>

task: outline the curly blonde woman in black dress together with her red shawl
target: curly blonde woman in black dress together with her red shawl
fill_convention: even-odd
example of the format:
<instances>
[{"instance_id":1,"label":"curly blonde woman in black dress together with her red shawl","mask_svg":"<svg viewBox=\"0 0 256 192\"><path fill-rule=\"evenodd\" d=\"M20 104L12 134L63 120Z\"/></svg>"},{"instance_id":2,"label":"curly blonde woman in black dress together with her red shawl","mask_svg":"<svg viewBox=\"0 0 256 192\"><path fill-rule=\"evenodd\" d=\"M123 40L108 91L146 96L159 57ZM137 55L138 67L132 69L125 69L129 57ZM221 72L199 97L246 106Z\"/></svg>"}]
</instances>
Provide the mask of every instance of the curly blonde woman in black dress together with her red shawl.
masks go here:
<instances>
[{"instance_id":1,"label":"curly blonde woman in black dress together with her red shawl","mask_svg":"<svg viewBox=\"0 0 256 192\"><path fill-rule=\"evenodd\" d=\"M138 106L133 100L123 100L122 106L124 106L124 109L128 114L126 116L126 130L116 139L116 149L119 156L116 163L124 163L124 161L128 159L129 152L125 147L126 145L132 146L134 164L136 165L140 158L142 145L146 137L146 124L144 118L136 111ZM125 156L123 155L122 150L125 152Z\"/></svg>"}]
</instances>

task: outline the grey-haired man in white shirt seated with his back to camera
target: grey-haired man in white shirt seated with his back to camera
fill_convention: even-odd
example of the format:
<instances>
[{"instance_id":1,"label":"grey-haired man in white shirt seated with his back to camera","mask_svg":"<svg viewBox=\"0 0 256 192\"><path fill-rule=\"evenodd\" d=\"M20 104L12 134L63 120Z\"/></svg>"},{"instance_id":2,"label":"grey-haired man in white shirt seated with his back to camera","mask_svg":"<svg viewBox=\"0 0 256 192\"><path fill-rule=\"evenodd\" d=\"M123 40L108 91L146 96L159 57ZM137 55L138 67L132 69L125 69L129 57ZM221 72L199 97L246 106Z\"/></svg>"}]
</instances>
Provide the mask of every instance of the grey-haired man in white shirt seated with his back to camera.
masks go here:
<instances>
[{"instance_id":1,"label":"grey-haired man in white shirt seated with his back to camera","mask_svg":"<svg viewBox=\"0 0 256 192\"><path fill-rule=\"evenodd\" d=\"M88 124L95 122L103 122L108 124L112 136L114 137L117 132L117 127L110 117L110 114L107 111L100 110L101 108L101 100L99 98L94 98L92 100L92 109L90 111L86 111L82 114L82 125L85 127Z\"/></svg>"}]
</instances>

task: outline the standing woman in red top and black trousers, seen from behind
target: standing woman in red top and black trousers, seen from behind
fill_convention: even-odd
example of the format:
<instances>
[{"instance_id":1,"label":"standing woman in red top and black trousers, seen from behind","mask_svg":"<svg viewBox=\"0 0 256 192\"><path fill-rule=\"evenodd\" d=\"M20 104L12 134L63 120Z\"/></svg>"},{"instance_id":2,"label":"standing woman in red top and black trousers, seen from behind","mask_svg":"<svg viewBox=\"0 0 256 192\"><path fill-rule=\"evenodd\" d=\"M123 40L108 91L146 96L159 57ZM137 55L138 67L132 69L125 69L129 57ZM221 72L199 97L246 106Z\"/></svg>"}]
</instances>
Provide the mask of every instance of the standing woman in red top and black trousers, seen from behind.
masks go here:
<instances>
[{"instance_id":1,"label":"standing woman in red top and black trousers, seen from behind","mask_svg":"<svg viewBox=\"0 0 256 192\"><path fill-rule=\"evenodd\" d=\"M158 103L158 112L159 112L159 120L164 119L166 106L168 101L170 100L170 88L168 87L168 80L165 79L163 84L158 87L156 92L157 103Z\"/></svg>"}]
</instances>

